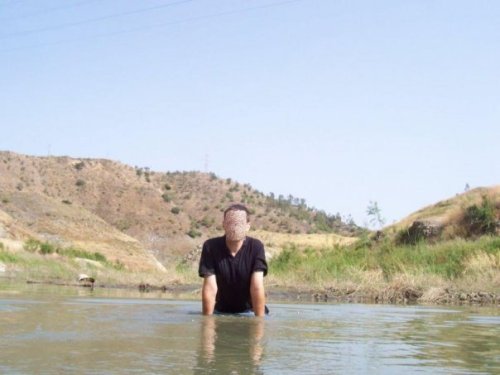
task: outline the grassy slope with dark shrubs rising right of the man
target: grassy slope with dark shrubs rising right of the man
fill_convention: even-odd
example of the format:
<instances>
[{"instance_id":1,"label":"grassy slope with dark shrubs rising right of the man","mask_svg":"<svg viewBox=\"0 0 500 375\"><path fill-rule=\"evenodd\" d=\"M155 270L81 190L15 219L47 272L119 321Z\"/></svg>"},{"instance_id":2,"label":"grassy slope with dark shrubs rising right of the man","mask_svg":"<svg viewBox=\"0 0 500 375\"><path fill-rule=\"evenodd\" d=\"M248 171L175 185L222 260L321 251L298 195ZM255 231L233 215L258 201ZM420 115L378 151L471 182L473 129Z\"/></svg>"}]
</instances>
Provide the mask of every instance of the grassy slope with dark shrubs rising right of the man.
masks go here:
<instances>
[{"instance_id":1,"label":"grassy slope with dark shrubs rising right of the man","mask_svg":"<svg viewBox=\"0 0 500 375\"><path fill-rule=\"evenodd\" d=\"M271 278L278 285L377 297L399 293L433 301L432 291L456 289L491 292L496 298L500 291L500 202L485 194L465 198L474 201L454 207L446 225L437 221L438 226L432 227L434 217L422 210L422 216L407 226L367 232L352 245L288 246L271 260Z\"/></svg>"}]
</instances>

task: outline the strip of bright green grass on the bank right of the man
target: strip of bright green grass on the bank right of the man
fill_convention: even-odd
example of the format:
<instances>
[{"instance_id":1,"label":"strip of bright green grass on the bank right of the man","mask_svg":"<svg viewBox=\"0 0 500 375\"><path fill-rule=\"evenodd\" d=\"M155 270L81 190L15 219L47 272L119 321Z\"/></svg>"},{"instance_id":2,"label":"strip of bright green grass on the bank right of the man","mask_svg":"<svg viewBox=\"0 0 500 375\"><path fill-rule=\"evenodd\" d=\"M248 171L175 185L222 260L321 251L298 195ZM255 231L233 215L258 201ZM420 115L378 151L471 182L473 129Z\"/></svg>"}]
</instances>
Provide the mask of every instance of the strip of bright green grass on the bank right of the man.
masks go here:
<instances>
[{"instance_id":1,"label":"strip of bright green grass on the bank right of the man","mask_svg":"<svg viewBox=\"0 0 500 375\"><path fill-rule=\"evenodd\" d=\"M291 246L270 261L269 272L278 278L299 278L304 282L346 279L352 270L382 270L386 280L401 273L456 280L461 277L467 259L478 252L498 254L500 237L457 239L439 244L420 242L414 246L387 242L374 247L307 248L304 251Z\"/></svg>"}]
</instances>

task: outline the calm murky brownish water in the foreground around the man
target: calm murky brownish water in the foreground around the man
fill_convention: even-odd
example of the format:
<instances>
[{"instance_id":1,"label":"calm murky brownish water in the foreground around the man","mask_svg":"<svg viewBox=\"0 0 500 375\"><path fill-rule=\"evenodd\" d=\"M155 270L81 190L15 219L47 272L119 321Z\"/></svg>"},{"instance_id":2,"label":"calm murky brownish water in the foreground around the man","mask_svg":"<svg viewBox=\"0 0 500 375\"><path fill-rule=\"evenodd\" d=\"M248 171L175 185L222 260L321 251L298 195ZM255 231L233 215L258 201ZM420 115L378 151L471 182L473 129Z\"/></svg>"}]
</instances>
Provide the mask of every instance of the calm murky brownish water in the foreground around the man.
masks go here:
<instances>
[{"instance_id":1,"label":"calm murky brownish water in the foreground around the man","mask_svg":"<svg viewBox=\"0 0 500 375\"><path fill-rule=\"evenodd\" d=\"M175 296L0 281L0 373L500 373L499 308L268 305L204 317Z\"/></svg>"}]
</instances>

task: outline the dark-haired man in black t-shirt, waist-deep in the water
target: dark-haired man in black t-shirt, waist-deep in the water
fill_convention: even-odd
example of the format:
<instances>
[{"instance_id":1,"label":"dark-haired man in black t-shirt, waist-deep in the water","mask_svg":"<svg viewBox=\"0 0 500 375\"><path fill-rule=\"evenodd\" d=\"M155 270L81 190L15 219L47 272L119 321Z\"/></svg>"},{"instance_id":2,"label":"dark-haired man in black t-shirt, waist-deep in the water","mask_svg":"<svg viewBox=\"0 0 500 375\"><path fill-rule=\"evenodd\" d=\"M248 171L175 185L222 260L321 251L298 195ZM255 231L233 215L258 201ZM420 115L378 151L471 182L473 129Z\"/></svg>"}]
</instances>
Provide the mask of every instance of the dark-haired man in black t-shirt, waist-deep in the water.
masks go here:
<instances>
[{"instance_id":1,"label":"dark-haired man in black t-shirt, waist-deep in the water","mask_svg":"<svg viewBox=\"0 0 500 375\"><path fill-rule=\"evenodd\" d=\"M264 276L267 263L264 245L248 237L250 212L242 204L224 211L225 235L203 244L198 274L203 277L203 315L253 311L267 313Z\"/></svg>"}]
</instances>

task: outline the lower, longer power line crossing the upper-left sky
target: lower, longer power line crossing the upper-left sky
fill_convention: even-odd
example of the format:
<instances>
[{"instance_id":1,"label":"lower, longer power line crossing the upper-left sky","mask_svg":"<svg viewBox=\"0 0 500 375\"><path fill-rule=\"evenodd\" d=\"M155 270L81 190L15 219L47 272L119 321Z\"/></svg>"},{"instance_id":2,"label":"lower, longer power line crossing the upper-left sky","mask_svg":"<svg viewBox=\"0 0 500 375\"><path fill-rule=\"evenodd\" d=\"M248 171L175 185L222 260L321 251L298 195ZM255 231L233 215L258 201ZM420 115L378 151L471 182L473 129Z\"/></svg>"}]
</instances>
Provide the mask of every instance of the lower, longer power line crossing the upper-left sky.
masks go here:
<instances>
[{"instance_id":1,"label":"lower, longer power line crossing the upper-left sky","mask_svg":"<svg viewBox=\"0 0 500 375\"><path fill-rule=\"evenodd\" d=\"M219 18L219 17L231 16L231 15L235 15L235 14L247 13L247 12L251 12L251 11L255 11L255 10L275 8L275 7L285 6L288 4L298 3L298 2L302 2L302 1L305 1L305 0L285 0L285 1L280 1L280 2L266 4L266 5L235 9L235 10L230 10L230 11L225 11L225 12L207 14L207 15L198 16L198 17L190 17L190 18L185 18L185 19L178 20L178 21L171 21L171 22L158 23L158 24L150 25L150 26L136 27L136 28L128 29L128 30L120 30L120 31L114 31L114 32L95 34L95 35L91 35L91 36L83 37L83 38L78 38L78 39L72 38L72 39L60 40L60 41L52 42L52 43L41 43L41 44L36 44L36 45L26 46L26 47L4 49L4 50L0 50L0 53L18 51L18 50L29 49L29 48L56 46L56 45L69 44L69 43L78 42L78 41L82 42L85 40L92 40L92 39L97 39L97 38L107 38L107 37L112 37L112 36L122 35L122 34L131 34L131 33L135 33L135 32L146 31L146 30L162 28L162 27L168 27L168 26L173 26L173 25L178 25L178 24L183 24L183 23L203 21L203 20L208 20L208 19L212 19L212 18Z\"/></svg>"}]
</instances>

